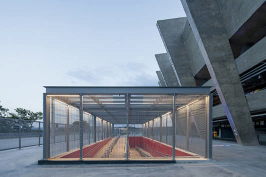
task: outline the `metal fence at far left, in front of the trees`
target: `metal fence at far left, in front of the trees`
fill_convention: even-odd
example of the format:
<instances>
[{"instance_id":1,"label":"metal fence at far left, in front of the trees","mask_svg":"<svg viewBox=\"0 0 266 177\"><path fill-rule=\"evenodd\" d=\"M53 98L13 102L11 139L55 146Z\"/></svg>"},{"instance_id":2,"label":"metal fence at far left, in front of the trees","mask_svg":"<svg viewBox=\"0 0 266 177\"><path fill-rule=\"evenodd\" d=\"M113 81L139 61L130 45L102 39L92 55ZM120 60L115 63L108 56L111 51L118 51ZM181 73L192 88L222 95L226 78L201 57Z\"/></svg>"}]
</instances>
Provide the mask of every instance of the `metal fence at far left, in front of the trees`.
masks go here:
<instances>
[{"instance_id":1,"label":"metal fence at far left, in front of the trees","mask_svg":"<svg viewBox=\"0 0 266 177\"><path fill-rule=\"evenodd\" d=\"M43 122L0 118L0 150L43 144Z\"/></svg>"}]
</instances>

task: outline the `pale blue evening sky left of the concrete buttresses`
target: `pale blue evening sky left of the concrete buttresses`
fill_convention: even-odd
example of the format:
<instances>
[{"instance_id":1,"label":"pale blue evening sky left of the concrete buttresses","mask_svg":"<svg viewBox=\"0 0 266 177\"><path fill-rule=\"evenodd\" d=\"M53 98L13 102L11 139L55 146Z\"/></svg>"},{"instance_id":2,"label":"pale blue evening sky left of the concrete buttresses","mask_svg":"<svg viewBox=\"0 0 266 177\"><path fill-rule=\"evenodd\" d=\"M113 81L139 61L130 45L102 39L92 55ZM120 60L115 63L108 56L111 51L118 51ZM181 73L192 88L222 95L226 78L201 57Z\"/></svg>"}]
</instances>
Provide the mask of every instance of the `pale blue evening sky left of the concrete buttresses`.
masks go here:
<instances>
[{"instance_id":1,"label":"pale blue evening sky left of the concrete buttresses","mask_svg":"<svg viewBox=\"0 0 266 177\"><path fill-rule=\"evenodd\" d=\"M43 110L43 86L158 86L156 21L180 0L0 0L0 105Z\"/></svg>"}]
</instances>

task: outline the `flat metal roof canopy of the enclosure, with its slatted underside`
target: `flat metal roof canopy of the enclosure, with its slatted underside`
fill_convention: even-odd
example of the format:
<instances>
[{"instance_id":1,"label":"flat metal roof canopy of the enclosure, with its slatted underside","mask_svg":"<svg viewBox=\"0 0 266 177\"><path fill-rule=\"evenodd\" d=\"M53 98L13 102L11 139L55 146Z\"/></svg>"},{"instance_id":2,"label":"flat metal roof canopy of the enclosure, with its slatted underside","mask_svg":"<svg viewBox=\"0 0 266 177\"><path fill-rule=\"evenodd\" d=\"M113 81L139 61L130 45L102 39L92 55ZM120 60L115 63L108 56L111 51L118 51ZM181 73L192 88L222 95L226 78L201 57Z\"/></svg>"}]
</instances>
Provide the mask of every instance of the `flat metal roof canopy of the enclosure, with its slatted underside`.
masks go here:
<instances>
[{"instance_id":1,"label":"flat metal roof canopy of the enclosure, with its slatted underside","mask_svg":"<svg viewBox=\"0 0 266 177\"><path fill-rule=\"evenodd\" d=\"M113 124L126 124L126 94L129 94L129 124L143 124L172 111L173 94L176 107L209 95L210 87L108 87L108 86L45 86L46 95L80 108Z\"/></svg>"}]
</instances>

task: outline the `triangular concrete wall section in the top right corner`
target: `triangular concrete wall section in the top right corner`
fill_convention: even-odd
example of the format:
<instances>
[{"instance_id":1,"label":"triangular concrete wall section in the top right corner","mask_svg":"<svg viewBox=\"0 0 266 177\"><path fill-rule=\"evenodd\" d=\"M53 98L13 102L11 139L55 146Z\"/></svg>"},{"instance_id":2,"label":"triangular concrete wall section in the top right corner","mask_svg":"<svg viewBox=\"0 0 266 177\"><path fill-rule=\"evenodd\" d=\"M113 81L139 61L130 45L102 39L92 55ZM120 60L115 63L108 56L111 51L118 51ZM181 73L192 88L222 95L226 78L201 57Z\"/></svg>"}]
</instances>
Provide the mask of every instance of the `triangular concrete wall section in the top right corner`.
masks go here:
<instances>
[{"instance_id":1,"label":"triangular concrete wall section in the top right corner","mask_svg":"<svg viewBox=\"0 0 266 177\"><path fill-rule=\"evenodd\" d=\"M217 0L230 38L265 0Z\"/></svg>"}]
</instances>

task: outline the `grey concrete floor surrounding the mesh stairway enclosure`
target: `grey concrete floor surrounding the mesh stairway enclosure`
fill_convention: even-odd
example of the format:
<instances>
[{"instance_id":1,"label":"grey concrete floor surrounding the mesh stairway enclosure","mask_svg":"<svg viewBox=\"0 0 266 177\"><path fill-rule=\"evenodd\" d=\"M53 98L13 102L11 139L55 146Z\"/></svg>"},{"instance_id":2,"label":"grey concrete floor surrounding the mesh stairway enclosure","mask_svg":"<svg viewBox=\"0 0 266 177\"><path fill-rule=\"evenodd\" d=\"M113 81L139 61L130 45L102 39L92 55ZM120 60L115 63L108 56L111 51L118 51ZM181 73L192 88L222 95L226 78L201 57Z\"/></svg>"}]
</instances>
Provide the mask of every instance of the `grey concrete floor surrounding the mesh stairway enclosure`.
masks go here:
<instances>
[{"instance_id":1,"label":"grey concrete floor surrounding the mesh stairway enclosure","mask_svg":"<svg viewBox=\"0 0 266 177\"><path fill-rule=\"evenodd\" d=\"M265 176L266 146L213 145L214 160L175 164L37 165L42 146L4 150L0 176Z\"/></svg>"}]
</instances>

